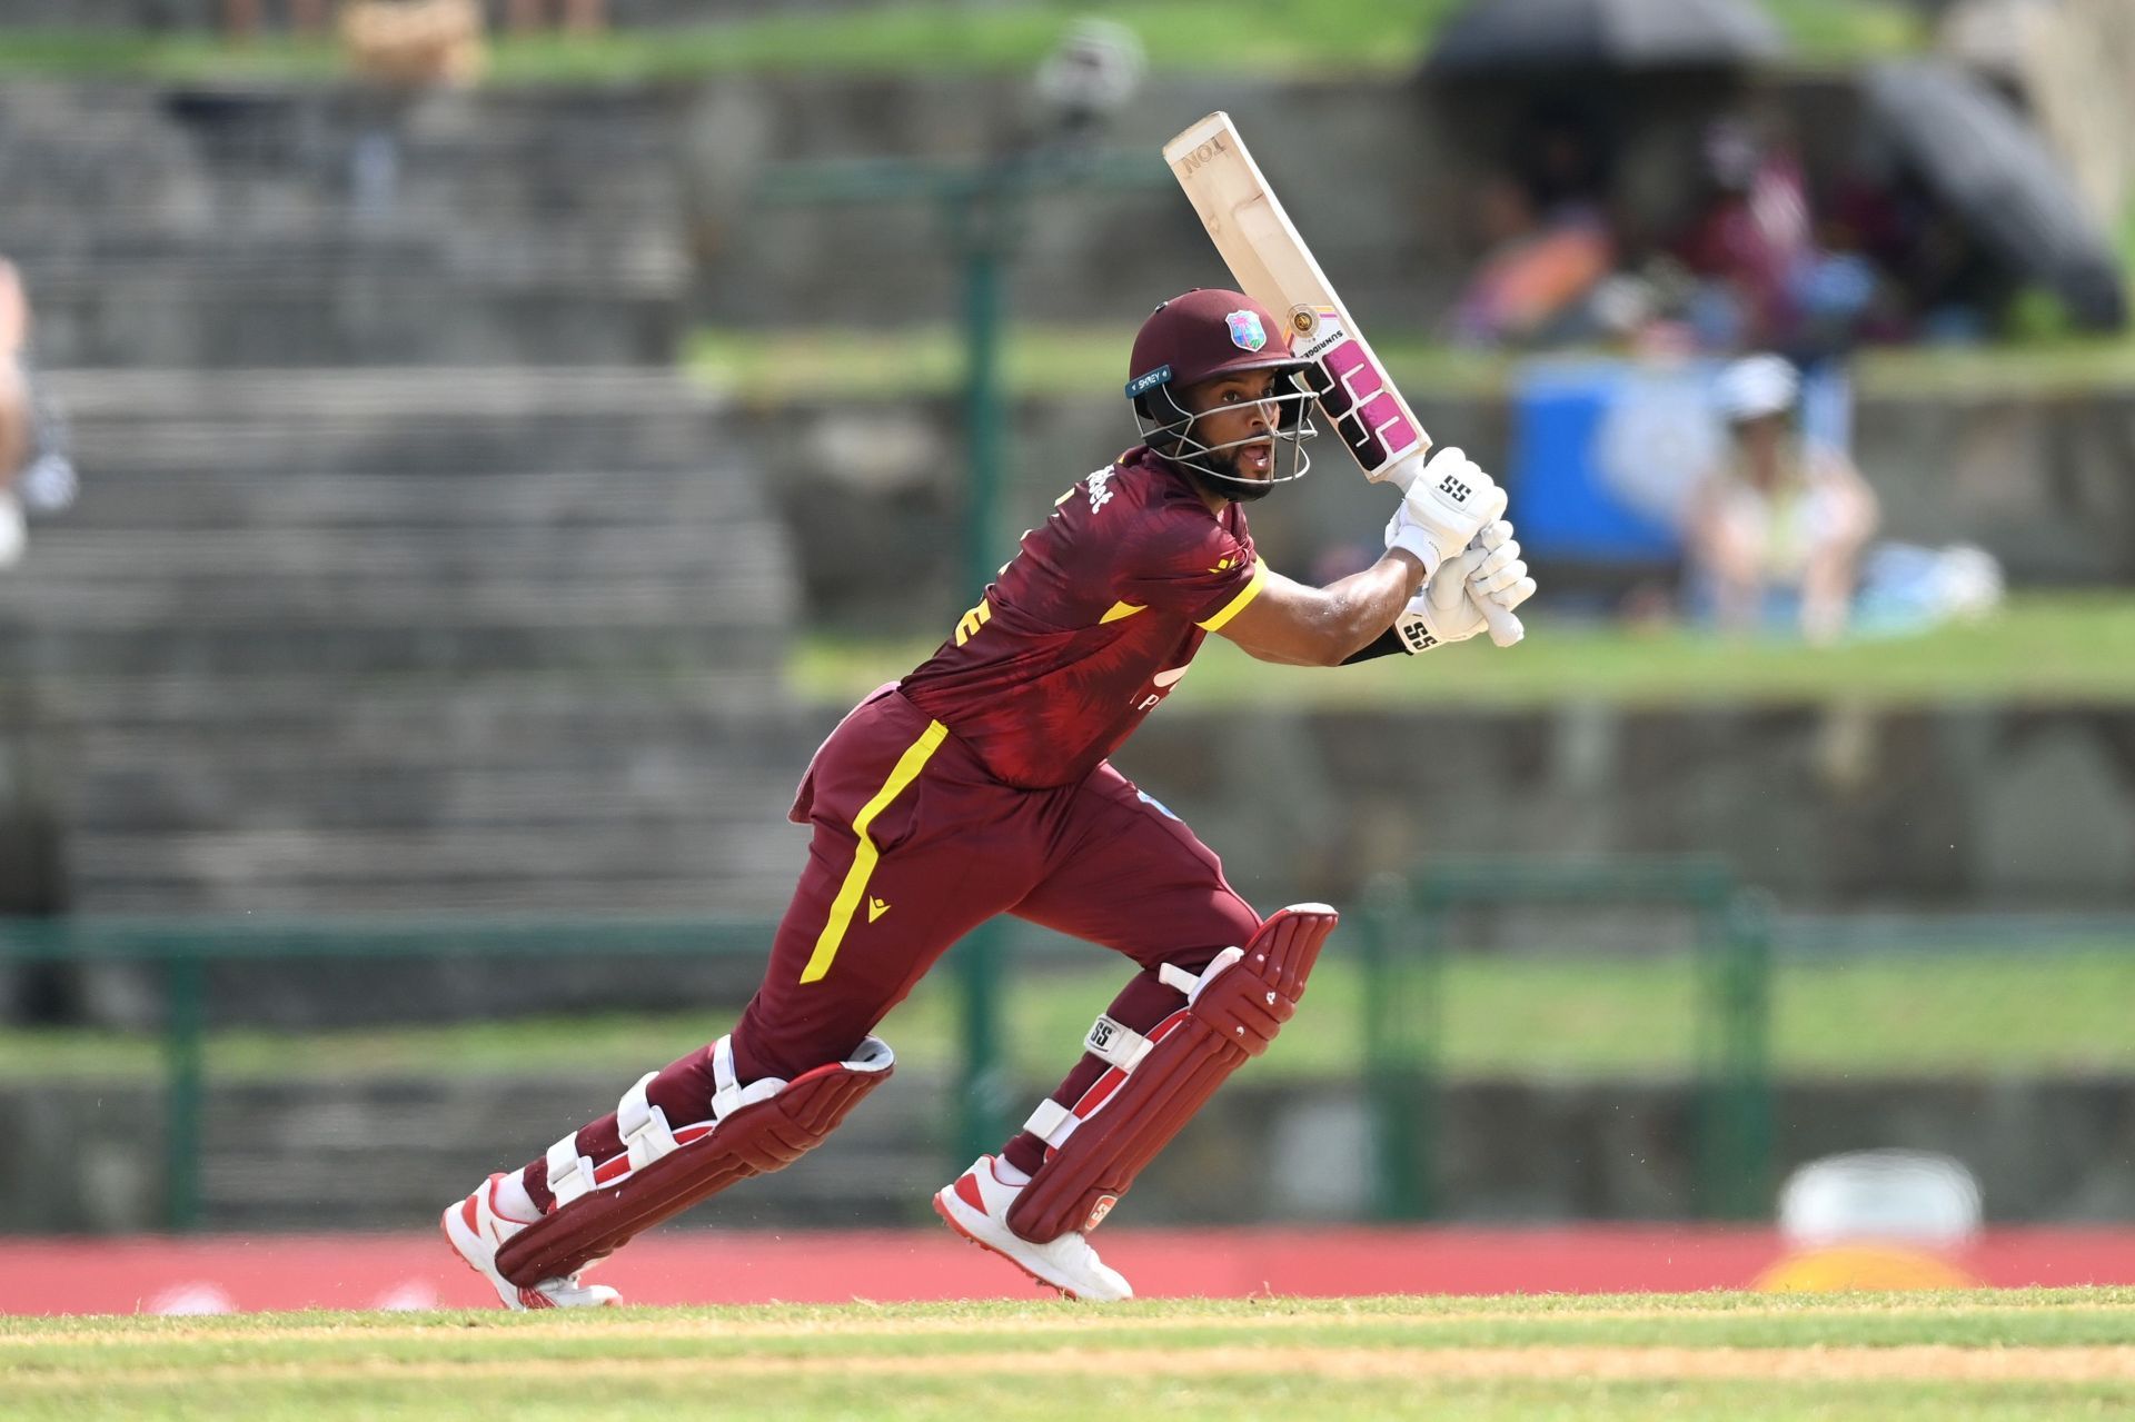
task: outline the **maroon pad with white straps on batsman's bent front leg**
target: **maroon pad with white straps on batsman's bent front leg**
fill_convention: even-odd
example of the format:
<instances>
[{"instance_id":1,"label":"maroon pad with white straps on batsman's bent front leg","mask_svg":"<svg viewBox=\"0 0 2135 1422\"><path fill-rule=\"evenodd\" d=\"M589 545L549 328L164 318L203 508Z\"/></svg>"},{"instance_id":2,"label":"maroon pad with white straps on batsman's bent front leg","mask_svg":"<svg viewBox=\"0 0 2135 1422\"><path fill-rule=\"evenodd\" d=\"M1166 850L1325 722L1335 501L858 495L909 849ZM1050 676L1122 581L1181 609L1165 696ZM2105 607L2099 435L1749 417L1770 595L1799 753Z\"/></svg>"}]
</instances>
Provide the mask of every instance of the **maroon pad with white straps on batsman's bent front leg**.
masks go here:
<instances>
[{"instance_id":1,"label":"maroon pad with white straps on batsman's bent front leg","mask_svg":"<svg viewBox=\"0 0 2135 1422\"><path fill-rule=\"evenodd\" d=\"M1245 948L1225 948L1196 978L1161 976L1187 1006L1140 1036L1106 1016L1085 1046L1110 1070L1074 1110L1042 1102L1025 1129L1046 1142L1046 1162L1008 1211L1008 1228L1033 1245L1095 1230L1142 1166L1170 1144L1215 1089L1268 1050L1304 995L1304 978L1337 914L1324 903L1277 912Z\"/></svg>"}]
</instances>

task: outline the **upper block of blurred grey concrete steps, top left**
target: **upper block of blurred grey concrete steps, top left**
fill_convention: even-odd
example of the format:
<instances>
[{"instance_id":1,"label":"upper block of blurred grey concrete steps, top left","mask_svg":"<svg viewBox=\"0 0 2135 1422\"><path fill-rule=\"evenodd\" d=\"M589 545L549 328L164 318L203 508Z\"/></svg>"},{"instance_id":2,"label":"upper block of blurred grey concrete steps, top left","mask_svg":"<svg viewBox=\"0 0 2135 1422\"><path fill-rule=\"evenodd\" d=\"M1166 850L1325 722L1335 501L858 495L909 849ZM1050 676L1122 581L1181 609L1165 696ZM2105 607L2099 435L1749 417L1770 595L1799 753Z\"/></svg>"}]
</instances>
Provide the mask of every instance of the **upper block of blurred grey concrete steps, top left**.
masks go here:
<instances>
[{"instance_id":1,"label":"upper block of blurred grey concrete steps, top left","mask_svg":"<svg viewBox=\"0 0 2135 1422\"><path fill-rule=\"evenodd\" d=\"M53 365L662 365L677 102L9 85L0 252Z\"/></svg>"}]
</instances>

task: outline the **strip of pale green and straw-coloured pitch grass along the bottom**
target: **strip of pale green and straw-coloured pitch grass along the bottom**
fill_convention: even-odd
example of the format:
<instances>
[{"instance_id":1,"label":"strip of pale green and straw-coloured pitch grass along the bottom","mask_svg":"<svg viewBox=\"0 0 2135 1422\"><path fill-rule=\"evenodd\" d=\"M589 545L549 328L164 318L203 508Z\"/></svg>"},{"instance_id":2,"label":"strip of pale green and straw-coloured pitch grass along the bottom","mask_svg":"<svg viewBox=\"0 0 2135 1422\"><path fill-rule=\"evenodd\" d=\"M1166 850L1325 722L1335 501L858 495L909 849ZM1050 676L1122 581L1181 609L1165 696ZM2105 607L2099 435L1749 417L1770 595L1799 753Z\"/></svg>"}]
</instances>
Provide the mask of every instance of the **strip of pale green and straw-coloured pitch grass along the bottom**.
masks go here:
<instances>
[{"instance_id":1,"label":"strip of pale green and straw-coloured pitch grass along the bottom","mask_svg":"<svg viewBox=\"0 0 2135 1422\"><path fill-rule=\"evenodd\" d=\"M2135 1290L0 1320L0 1416L2124 1418Z\"/></svg>"}]
</instances>

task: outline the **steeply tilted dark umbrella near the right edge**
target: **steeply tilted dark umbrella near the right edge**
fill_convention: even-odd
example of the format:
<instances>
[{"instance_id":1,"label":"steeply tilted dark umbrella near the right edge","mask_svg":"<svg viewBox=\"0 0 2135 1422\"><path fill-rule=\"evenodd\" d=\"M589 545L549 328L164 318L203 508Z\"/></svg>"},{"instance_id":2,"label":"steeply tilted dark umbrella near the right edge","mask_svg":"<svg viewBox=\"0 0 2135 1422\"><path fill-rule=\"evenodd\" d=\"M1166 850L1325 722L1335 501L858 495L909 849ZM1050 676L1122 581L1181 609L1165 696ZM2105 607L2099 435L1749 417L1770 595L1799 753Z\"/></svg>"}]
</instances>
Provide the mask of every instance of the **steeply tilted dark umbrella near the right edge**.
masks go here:
<instances>
[{"instance_id":1,"label":"steeply tilted dark umbrella near the right edge","mask_svg":"<svg viewBox=\"0 0 2135 1422\"><path fill-rule=\"evenodd\" d=\"M2114 250L2007 98L1939 60L1877 66L1866 88L1875 122L1981 248L2058 295L2082 325L2126 320Z\"/></svg>"}]
</instances>

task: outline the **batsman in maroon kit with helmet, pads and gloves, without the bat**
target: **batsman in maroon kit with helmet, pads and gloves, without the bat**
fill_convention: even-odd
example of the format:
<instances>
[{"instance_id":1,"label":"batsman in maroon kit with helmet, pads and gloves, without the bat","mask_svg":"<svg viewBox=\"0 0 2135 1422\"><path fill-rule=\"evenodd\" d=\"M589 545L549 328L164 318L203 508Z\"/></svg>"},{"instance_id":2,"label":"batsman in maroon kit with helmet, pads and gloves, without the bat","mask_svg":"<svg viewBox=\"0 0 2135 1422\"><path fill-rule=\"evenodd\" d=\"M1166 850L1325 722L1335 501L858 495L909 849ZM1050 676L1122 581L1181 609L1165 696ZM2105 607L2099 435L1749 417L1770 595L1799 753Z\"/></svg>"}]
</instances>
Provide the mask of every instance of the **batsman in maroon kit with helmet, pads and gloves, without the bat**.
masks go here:
<instances>
[{"instance_id":1,"label":"batsman in maroon kit with helmet, pads and gloves, without the bat","mask_svg":"<svg viewBox=\"0 0 2135 1422\"><path fill-rule=\"evenodd\" d=\"M1129 1298L1089 1232L1296 1010L1334 910L1262 918L1108 756L1211 632L1264 662L1337 666L1484 630L1533 591L1505 493L1443 448L1371 568L1309 587L1253 553L1245 506L1309 468L1313 391L1285 325L1189 290L1134 339L1142 444L1063 493L918 670L854 707L794 799L807 867L734 1029L444 1211L508 1309L617 1302L581 1270L640 1230L816 1149L890 1076L871 1036L995 914L1136 971L1082 1057L999 1153L935 1194L967 1241L1085 1300Z\"/></svg>"}]
</instances>

